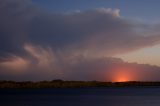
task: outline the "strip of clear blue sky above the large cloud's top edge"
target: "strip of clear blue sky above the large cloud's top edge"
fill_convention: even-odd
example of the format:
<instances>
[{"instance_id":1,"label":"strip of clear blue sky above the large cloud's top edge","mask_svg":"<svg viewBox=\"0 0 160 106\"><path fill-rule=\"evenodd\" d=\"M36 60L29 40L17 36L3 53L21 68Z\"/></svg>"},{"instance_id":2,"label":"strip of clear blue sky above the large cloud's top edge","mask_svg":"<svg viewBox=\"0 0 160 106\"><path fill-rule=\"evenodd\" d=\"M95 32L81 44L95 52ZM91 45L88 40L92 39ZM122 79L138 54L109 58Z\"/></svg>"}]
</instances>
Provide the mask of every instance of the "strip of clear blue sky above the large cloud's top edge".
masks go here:
<instances>
[{"instance_id":1,"label":"strip of clear blue sky above the large cloud's top edge","mask_svg":"<svg viewBox=\"0 0 160 106\"><path fill-rule=\"evenodd\" d=\"M32 0L35 5L50 12L88 10L94 8L117 8L121 15L147 21L159 21L159 0ZM142 21L143 21L142 20Z\"/></svg>"}]
</instances>

